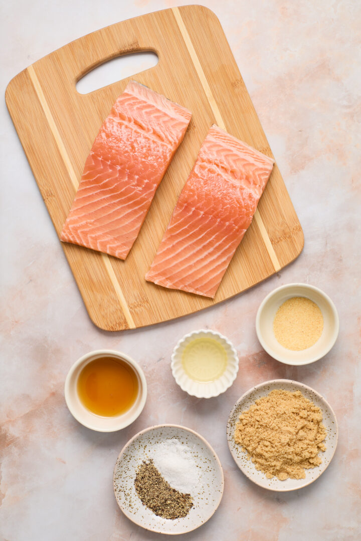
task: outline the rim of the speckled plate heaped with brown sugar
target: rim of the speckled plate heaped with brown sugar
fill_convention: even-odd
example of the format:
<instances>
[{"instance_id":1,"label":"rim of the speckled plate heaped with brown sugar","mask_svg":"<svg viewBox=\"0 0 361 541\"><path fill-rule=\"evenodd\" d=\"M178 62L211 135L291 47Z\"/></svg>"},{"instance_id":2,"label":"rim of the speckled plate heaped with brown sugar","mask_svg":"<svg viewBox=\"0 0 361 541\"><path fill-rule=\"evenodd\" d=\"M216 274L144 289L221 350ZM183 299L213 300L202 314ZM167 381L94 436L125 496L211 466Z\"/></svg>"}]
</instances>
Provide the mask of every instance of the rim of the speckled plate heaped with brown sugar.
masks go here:
<instances>
[{"instance_id":1,"label":"rim of the speckled plate heaped with brown sugar","mask_svg":"<svg viewBox=\"0 0 361 541\"><path fill-rule=\"evenodd\" d=\"M329 408L330 412L332 413L333 415L333 419L334 419L334 424L335 424L335 429L336 429L336 443L333 447L333 452L332 452L332 455L331 455L331 458L329 460L329 463L326 465L325 469L323 471L321 471L317 477L313 478L313 479L310 479L309 481L307 481L306 483L304 483L303 485L301 486L296 486L296 487L293 487L293 488L289 488L289 489L277 489L277 488L273 488L273 487L270 487L270 486L263 486L261 485L260 483L258 483L257 480L254 480L244 469L242 469L237 461L235 460L234 458L234 455L232 453L232 449L231 449L231 443L229 441L229 438L228 438L228 426L229 426L229 422L231 421L231 417L233 415L233 412L235 411L235 409L237 408L237 406L240 404L240 402L242 400L244 400L248 395L250 395L251 393L253 393L254 391L258 390L259 388L261 387L266 387L267 385L271 385L271 384L292 384L292 385L295 385L296 387L298 385L300 385L301 387L304 387L307 391L310 391L311 393L314 393L317 395L317 397L323 401L327 408ZM258 385L254 385L254 387L250 387L245 393L242 394L242 396L237 400L237 402L232 406L232 409L231 411L229 412L229 415L228 415L228 419L227 419L227 425L226 425L226 437L227 437L227 444L228 444L228 448L229 448L229 452L231 453L232 455L232 458L233 460L235 461L235 464L238 466L238 468L240 469L240 471L248 478L250 479L250 481L252 481L252 483L254 483L255 485L258 485L260 486L262 489L265 489L265 490L271 490L273 492L292 492L294 490L299 490L299 489L304 489L305 486L309 486L311 485L311 483L313 483L313 481L316 481L316 479L318 479L326 470L327 468L330 466L331 464L331 461L334 457L334 453L336 451L336 447L337 447L337 444L338 444L338 423L337 423L337 418L336 418L336 415L334 414L334 411L332 409L332 407L330 406L329 402L325 399L325 397L318 393L317 391L315 391L312 387L310 387L309 385L306 385L305 383L301 383L301 381L296 381L294 379L270 379L268 381L262 381L262 383L259 383Z\"/></svg>"}]
</instances>

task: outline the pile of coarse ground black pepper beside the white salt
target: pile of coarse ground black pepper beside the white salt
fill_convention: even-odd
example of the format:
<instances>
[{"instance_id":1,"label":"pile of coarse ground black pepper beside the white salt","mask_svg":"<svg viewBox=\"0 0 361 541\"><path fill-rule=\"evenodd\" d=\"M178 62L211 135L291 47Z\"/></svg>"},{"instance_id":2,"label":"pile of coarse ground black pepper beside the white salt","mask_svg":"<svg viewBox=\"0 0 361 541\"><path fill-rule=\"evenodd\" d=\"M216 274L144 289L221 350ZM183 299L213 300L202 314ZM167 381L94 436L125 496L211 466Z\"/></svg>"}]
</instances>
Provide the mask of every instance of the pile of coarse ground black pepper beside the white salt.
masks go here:
<instances>
[{"instance_id":1,"label":"pile of coarse ground black pepper beside the white salt","mask_svg":"<svg viewBox=\"0 0 361 541\"><path fill-rule=\"evenodd\" d=\"M143 460L135 480L135 490L143 505L158 517L176 519L186 517L193 507L191 494L172 489L154 466L153 460Z\"/></svg>"}]
</instances>

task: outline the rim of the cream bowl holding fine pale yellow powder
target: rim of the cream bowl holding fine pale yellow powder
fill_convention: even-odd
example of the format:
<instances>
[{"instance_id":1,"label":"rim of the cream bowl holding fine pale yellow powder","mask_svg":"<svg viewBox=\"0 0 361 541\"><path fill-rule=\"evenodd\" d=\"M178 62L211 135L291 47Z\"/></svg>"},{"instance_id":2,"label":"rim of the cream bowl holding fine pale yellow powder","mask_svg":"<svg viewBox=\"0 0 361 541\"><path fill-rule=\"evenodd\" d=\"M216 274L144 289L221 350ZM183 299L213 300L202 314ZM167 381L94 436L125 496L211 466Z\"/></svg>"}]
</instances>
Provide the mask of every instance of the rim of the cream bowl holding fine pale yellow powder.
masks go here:
<instances>
[{"instance_id":1,"label":"rim of the cream bowl holding fine pale yellow powder","mask_svg":"<svg viewBox=\"0 0 361 541\"><path fill-rule=\"evenodd\" d=\"M333 317L334 317L334 328L333 328L333 332L332 332L332 338L329 341L328 345L324 349L322 349L319 354L314 355L314 357L311 357L310 359L307 359L305 361L293 360L293 359L292 360L291 359L286 360L285 357L281 358L280 355L278 355L275 351L273 351L273 349L264 340L263 335L261 333L261 328L260 328L261 314L262 314L267 302L270 299L272 299L272 297L274 295L277 295L278 292L285 291L285 290L287 290L289 288L292 288L292 287L299 287L299 288L305 289L305 290L310 289L311 291L314 291L314 292L318 293L327 302L327 304L331 308L331 312L332 312ZM335 342L337 340L338 333L339 333L339 317L338 317L338 312L337 312L336 306L334 305L333 301L330 299L329 295L327 295L324 291L322 291L321 289L319 289L316 286L312 286L309 283L292 282L292 283L286 283L283 286L279 286L279 287L273 289L270 293L268 293L268 295L265 296L265 298L262 300L261 304L259 305L259 308L258 308L258 311L257 311L257 315L256 315L256 318L255 318L255 329L256 329L256 333L257 333L257 338L258 338L262 348L264 348L265 351L268 353L268 355L271 355L271 357L273 359L275 359L275 360L277 360L279 362L283 362L283 364L285 364L285 365L304 366L304 365L309 365L312 362L318 361L319 359L325 357L325 355L327 355L327 353L329 353L331 351L332 347L334 346L334 344L335 344Z\"/></svg>"}]
</instances>

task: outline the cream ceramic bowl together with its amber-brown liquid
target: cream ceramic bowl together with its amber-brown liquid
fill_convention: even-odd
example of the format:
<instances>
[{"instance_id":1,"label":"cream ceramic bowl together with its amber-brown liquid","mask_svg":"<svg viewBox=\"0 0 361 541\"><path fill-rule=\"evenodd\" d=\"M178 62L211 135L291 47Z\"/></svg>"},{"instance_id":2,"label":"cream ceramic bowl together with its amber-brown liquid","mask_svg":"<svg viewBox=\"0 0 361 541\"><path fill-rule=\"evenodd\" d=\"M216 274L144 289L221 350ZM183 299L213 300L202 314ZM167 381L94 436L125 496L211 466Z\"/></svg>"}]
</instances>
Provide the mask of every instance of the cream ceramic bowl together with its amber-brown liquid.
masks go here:
<instances>
[{"instance_id":1,"label":"cream ceramic bowl together with its amber-brown liquid","mask_svg":"<svg viewBox=\"0 0 361 541\"><path fill-rule=\"evenodd\" d=\"M147 399L141 367L125 353L99 349L70 368L64 387L73 417L98 432L121 430L135 421Z\"/></svg>"}]
</instances>

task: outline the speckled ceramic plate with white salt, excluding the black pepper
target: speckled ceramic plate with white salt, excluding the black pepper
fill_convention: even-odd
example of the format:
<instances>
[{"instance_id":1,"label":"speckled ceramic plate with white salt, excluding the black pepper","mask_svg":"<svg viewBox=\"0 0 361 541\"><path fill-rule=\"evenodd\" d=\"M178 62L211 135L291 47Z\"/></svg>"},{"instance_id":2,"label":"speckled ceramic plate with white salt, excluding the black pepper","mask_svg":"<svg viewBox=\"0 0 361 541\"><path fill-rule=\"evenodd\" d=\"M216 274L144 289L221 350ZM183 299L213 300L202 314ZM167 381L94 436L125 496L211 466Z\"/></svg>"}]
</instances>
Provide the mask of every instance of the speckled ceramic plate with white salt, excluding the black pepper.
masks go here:
<instances>
[{"instance_id":1,"label":"speckled ceramic plate with white salt, excluding the black pepper","mask_svg":"<svg viewBox=\"0 0 361 541\"><path fill-rule=\"evenodd\" d=\"M179 452L179 460L163 460L169 456L167 449L173 459L173 453ZM149 459L173 488L193 497L194 506L186 517L157 517L142 504L134 479L142 461ZM178 471L174 466L173 470L179 461L185 467ZM222 498L224 477L218 457L204 438L184 426L159 425L139 432L124 446L115 464L113 483L120 509L135 524L153 532L179 534L195 530L212 517Z\"/></svg>"}]
</instances>

